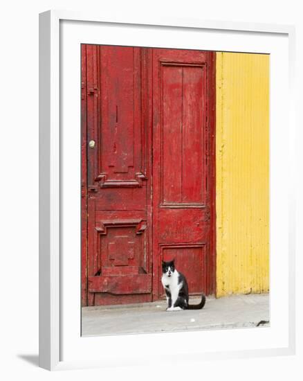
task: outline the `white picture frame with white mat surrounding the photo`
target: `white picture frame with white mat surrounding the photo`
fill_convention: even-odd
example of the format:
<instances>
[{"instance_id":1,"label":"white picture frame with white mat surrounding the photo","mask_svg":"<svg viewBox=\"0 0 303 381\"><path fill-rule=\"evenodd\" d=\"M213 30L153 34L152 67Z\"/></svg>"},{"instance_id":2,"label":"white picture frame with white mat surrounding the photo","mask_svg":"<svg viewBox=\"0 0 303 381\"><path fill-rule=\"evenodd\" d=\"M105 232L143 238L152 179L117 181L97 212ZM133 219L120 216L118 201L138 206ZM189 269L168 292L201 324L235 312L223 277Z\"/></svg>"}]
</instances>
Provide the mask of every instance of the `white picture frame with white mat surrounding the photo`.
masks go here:
<instances>
[{"instance_id":1,"label":"white picture frame with white mat surrounding the photo","mask_svg":"<svg viewBox=\"0 0 303 381\"><path fill-rule=\"evenodd\" d=\"M65 24L64 24L65 23ZM67 25L71 26L70 29ZM250 51L258 53L270 53L278 54L277 46L270 46L270 43L265 41L266 39L273 38L275 42L278 43L278 40L283 40L283 54L286 54L284 57L284 69L287 68L286 73L282 78L284 94L289 98L289 102L286 102L284 106L283 114L276 115L277 107L281 105L283 101L279 90L282 89L275 82L275 76L277 73L271 71L271 98L270 98L270 123L271 126L275 123L277 129L273 130L270 128L270 152L277 157L277 149L279 143L282 139L282 130L281 123L286 123L288 128L285 128L284 139L288 139L288 155L286 156L284 168L291 168L288 170L287 178L288 181L285 184L280 184L279 189L277 190L278 194L273 195L270 193L270 220L272 224L270 226L270 253L275 250L277 253L277 263L275 263L275 258L271 257L271 267L270 267L270 290L273 290L273 294L270 295L270 313L271 325L269 328L262 328L259 332L264 335L267 335L268 340L271 345L264 342L262 346L257 347L257 344L244 345L247 341L247 337L252 339L252 335L255 336L257 343L258 334L252 333L249 335L249 329L245 328L242 330L234 330L234 336L237 336L235 342L239 339L238 346L235 348L226 348L223 346L224 340L230 339L230 332L221 331L218 334L217 332L208 332L201 333L203 335L204 342L217 342L220 341L222 337L222 345L218 344L209 346L208 350L205 348L199 348L199 346L194 345L194 337L197 337L200 333L162 333L162 334L151 334L151 335L125 335L120 337L90 337L90 338L80 338L78 333L80 332L80 309L77 311L77 303L80 303L80 298L77 299L79 293L78 290L73 291L73 285L77 281L77 276L79 276L80 268L80 259L77 255L72 259L69 256L69 252L73 249L66 250L66 245L68 245L68 229L66 226L66 218L70 220L77 220L77 213L80 210L80 202L77 204L77 195L75 197L66 198L66 192L64 190L64 184L66 184L66 177L68 173L66 168L71 164L68 157L73 157L79 159L80 150L80 134L77 136L77 133L73 136L67 136L66 130L62 126L71 125L73 123L72 119L66 119L66 115L71 114L71 109L75 109L77 102L80 106L80 77L79 82L72 82L73 88L66 86L64 78L64 60L67 60L67 57L72 57L71 59L80 57L80 49L77 53L77 46L79 45L79 39L75 36L77 33L81 34L80 29L86 28L89 26L91 31L86 30L86 35L83 35L83 43L102 43L103 44L130 44L130 45L140 45L139 37L143 38L142 33L145 30L145 38L150 37L147 41L145 39L145 46L160 46L160 47L187 47L194 48L195 38L190 39L190 44L183 45L184 42L181 39L174 38L174 43L172 46L172 41L164 41L163 31L169 31L169 35L174 35L174 33L180 33L180 36L187 35L187 37L197 35L197 33L204 33L205 39L201 48L209 50L227 50L227 51ZM95 33L98 28L111 28L111 35L104 33ZM96 29L97 28L97 29ZM125 33L117 32L118 28L123 29ZM140 30L140 36L135 36L134 30ZM75 33L75 30L78 30ZM81 29L82 30L82 29ZM116 31L115 31L116 30ZM152 30L152 33L151 33ZM129 33L127 33L127 31ZM142 32L143 31L143 32ZM142 33L141 33L142 32ZM226 46L227 48L218 48L219 40L217 45L212 45L216 37L216 33L220 35L230 36L230 43ZM144 33L143 33L144 34ZM246 35L246 38L249 39L246 48L241 48L244 46L243 35ZM166 33L168 35L168 33ZM74 50L69 51L66 55L66 37L73 37L73 43L68 44L68 48ZM107 36L107 37L106 37ZM131 39L129 36L134 36L138 38L138 42L134 43L134 39ZM153 42L153 39L155 42ZM253 40L257 39L257 44L259 43L259 48L255 44L255 50L252 48ZM160 42L160 40L163 40ZM208 41L209 40L209 41ZM158 41L158 42L157 42ZM187 40L188 41L188 40ZM260 44L264 41L264 46ZM142 44L142 42L141 42ZM152 44L152 45L151 45ZM165 45L166 44L166 45ZM169 45L170 44L170 45ZM189 46L190 45L190 46ZM216 44L215 44L216 45ZM213 48L210 48L213 46ZM223 46L223 45L222 45ZM267 48L266 48L267 46ZM150 355L153 355L160 361L161 353L153 352L153 345L156 345L153 342L157 340L160 342L163 337L169 337L170 340L174 341L177 338L182 336L184 342L191 342L192 348L183 353L178 351L178 346L176 346L175 353L170 354L166 357L166 361L176 361L181 358L184 359L187 357L188 360L210 360L210 359L222 359L222 358L234 358L234 357L249 357L249 356L264 356L264 355L291 355L295 353L295 245L293 231L294 221L295 221L295 197L294 197L294 184L295 178L294 173L294 162L295 162L295 152L293 148L295 147L295 123L294 123L294 107L295 102L293 99L293 86L294 86L294 52L295 52L295 30L292 26L282 26L282 25L271 25L271 24L245 24L245 23L232 23L226 21L203 21L199 19L123 19L123 18L111 18L106 19L104 17L99 17L98 15L90 15L89 13L83 12L70 12L70 11L48 11L40 14L39 16L39 93L40 93L40 102L39 102L39 366L44 369L49 370L58 370L58 369L75 369L75 368L86 368L86 367L95 367L95 366L111 366L113 364L119 363L123 364L147 364L150 362ZM239 50L241 49L241 50ZM246 50L247 49L247 50ZM266 50L267 49L267 50ZM275 50L276 49L276 50ZM266 51L265 51L266 50ZM280 52L281 53L281 52ZM282 56L281 56L282 57ZM75 60L77 61L77 60ZM80 65L80 61L77 63ZM275 67L270 67L273 69ZM70 68L71 69L71 68ZM281 68L278 68L277 71L281 74ZM71 69L71 72L73 70ZM77 76L77 69L71 73L75 78ZM63 75L62 75L63 74ZM64 79L63 79L64 78ZM64 84L64 85L63 85ZM70 82L71 84L71 82ZM79 85L79 87L78 87ZM289 87L289 89L288 89ZM63 89L63 90L62 90ZM67 94L62 94L62 91L71 91L71 99L66 103ZM77 89L79 91L77 92ZM75 94L76 93L76 94ZM78 96L78 100L76 100ZM70 106L68 106L70 104ZM77 107L76 107L77 109ZM80 107L79 110L80 112ZM77 124L77 115L75 113L75 123ZM282 118L282 119L281 119ZM80 123L80 120L79 120ZM75 136L74 136L75 135ZM277 136L276 136L277 135ZM68 144L67 138L68 137ZM79 145L78 145L79 143ZM272 159L272 157L271 157ZM271 160L270 159L270 160ZM80 165L80 163L79 163ZM287 165L287 166L286 166ZM76 165L75 165L76 166ZM270 161L270 185L275 184L273 181L278 181L278 173L273 166L273 162ZM279 168L280 170L281 168ZM73 169L73 175L77 173L77 166L75 170ZM77 188L78 177L74 176L72 183L75 184ZM80 186L76 189L76 192L79 191L80 196ZM284 204L284 210L281 212L283 216L283 223L278 222L275 215L275 205L277 205L281 200L288 200L288 203ZM69 206L67 206L69 205ZM66 213L65 209L67 208ZM68 209L69 208L69 209ZM73 211L75 209L75 215ZM69 213L71 212L71 213ZM66 215L70 215L66 217ZM78 225L77 225L78 224ZM72 235L75 234L75 230L79 229L80 218L75 222L75 229L70 228L73 231ZM287 231L282 239L282 242L279 242L279 247L277 242L275 242L275 236L283 231ZM69 234L71 235L71 234ZM71 241L70 241L71 242ZM73 245L78 245L79 247L75 248L75 252L79 253L80 249L80 236L78 240L73 242ZM283 259L282 255L279 253L287 254ZM283 254L282 253L282 254ZM79 259L79 262L77 262ZM66 262L69 261L69 262ZM283 262L284 261L284 262ZM68 263L73 270L70 274L66 274L66 263ZM288 271L287 271L288 270ZM273 287L275 282L275 277L278 277L287 271L288 282L286 291L279 290L277 287ZM72 274L71 274L72 273ZM285 273L284 273L285 274ZM67 279L68 278L68 279ZM71 285L71 286L70 286ZM278 285L277 285L278 286ZM80 288L80 278L79 285ZM286 312L282 311L282 317L280 321L272 319L275 317L273 308L275 308L275 303L277 303L277 292L285 293L287 299L287 308ZM64 294L65 293L65 294ZM68 299L66 298L66 293L68 293ZM70 300L72 299L72 300ZM71 308L68 307L67 312L65 305L66 303L73 303ZM75 317L75 321L73 320ZM68 320L68 328L66 324ZM282 335L275 342L275 335L279 329L279 324L282 324L284 330L282 329ZM75 328L76 327L76 328ZM77 328L78 327L78 328ZM74 329L75 328L75 329ZM281 328L281 326L280 326ZM73 330L74 329L74 330ZM78 330L79 329L79 330ZM275 330L276 329L276 330ZM70 330L69 333L66 333L67 330ZM73 330L73 332L72 332ZM237 331L237 332L236 332ZM193 334L193 335L192 335ZM65 336L64 336L65 335ZM71 335L74 335L72 338ZM159 336L159 335L162 335ZM261 335L261 334L260 334ZM241 336L246 336L246 338L241 339ZM79 339L82 340L81 346L83 346L83 351L76 352L75 348L79 347ZM99 346L100 340L102 340L102 347L107 348L107 353L103 353L98 357L90 357L89 348L93 346ZM243 346L241 347L241 340ZM145 345L144 342L149 342L151 346L150 354L145 360L144 357L140 357L140 348L142 345ZM218 342L219 342L218 341ZM132 342L133 349L138 347L138 353L136 356L134 353L130 357L127 355L122 356L123 348L126 345ZM98 344L99 343L99 344ZM240 344L239 344L240 343ZM250 344L251 344L250 343ZM249 343L248 343L249 344ZM75 351L69 351L66 348L74 348ZM113 352L113 348L121 348L121 353L119 351ZM135 350L136 351L136 350ZM64 353L64 355L62 355ZM86 353L86 355L85 355ZM134 358L136 357L136 359ZM117 361L118 358L118 361Z\"/></svg>"}]
</instances>

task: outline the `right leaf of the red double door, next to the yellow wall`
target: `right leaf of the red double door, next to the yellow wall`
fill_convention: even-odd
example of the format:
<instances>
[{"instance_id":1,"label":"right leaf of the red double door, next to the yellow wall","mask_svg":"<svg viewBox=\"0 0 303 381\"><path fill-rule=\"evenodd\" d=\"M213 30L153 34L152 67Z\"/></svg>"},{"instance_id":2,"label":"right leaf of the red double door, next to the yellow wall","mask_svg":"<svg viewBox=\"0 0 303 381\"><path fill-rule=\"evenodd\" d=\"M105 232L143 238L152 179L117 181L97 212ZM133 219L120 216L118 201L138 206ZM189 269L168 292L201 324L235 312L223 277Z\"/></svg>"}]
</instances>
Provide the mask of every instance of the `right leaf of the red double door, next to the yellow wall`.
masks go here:
<instances>
[{"instance_id":1,"label":"right leaf of the red double door, next to the yellow wall","mask_svg":"<svg viewBox=\"0 0 303 381\"><path fill-rule=\"evenodd\" d=\"M214 292L213 60L205 51L153 50L154 269L174 258L191 294Z\"/></svg>"}]
</instances>

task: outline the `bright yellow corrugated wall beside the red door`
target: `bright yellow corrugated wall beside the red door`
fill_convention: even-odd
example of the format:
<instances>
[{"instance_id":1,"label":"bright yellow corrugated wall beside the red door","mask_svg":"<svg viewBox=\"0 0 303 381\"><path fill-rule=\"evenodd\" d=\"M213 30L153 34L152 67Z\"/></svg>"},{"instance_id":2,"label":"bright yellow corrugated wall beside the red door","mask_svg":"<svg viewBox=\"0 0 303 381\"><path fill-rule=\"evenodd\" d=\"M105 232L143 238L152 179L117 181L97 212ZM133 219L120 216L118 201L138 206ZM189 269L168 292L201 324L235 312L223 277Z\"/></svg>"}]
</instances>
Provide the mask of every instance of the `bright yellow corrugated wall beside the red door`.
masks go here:
<instances>
[{"instance_id":1,"label":"bright yellow corrugated wall beside the red door","mask_svg":"<svg viewBox=\"0 0 303 381\"><path fill-rule=\"evenodd\" d=\"M269 55L217 53L217 296L269 289Z\"/></svg>"}]
</instances>

